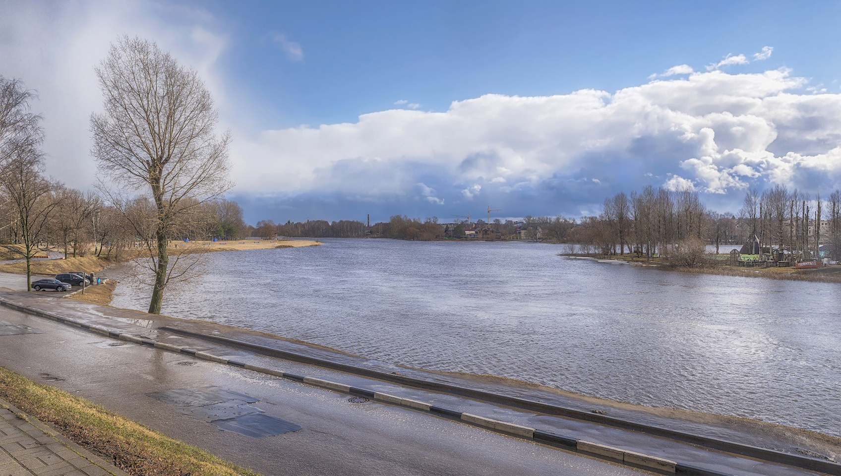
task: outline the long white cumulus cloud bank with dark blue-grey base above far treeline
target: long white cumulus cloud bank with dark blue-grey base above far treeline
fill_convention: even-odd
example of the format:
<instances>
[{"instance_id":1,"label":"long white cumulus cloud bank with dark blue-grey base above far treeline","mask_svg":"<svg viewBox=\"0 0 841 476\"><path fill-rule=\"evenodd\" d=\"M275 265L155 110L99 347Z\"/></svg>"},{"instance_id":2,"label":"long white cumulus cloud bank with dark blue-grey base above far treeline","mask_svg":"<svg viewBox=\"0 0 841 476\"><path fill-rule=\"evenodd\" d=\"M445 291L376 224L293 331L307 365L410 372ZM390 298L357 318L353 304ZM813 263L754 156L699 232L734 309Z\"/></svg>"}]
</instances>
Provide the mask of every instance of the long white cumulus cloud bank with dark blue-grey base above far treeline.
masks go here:
<instances>
[{"instance_id":1,"label":"long white cumulus cloud bank with dark blue-grey base above far treeline","mask_svg":"<svg viewBox=\"0 0 841 476\"><path fill-rule=\"evenodd\" d=\"M529 199L536 213L576 214L649 183L733 204L746 188L773 183L836 188L841 95L806 93L805 84L785 69L709 71L612 94L488 94L445 112L394 109L353 124L266 130L236 146L236 180L263 199L321 193L416 202L429 214Z\"/></svg>"}]
</instances>

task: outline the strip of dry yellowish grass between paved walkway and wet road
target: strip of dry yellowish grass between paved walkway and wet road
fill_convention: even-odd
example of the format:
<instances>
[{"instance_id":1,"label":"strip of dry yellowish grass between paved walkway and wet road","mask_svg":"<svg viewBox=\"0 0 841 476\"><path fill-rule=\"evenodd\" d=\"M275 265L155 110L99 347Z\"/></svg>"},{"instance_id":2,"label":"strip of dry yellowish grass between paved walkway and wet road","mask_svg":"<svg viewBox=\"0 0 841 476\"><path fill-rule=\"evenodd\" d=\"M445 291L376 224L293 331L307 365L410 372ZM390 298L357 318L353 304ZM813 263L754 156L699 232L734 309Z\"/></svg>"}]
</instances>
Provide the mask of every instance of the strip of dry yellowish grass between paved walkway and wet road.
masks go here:
<instances>
[{"instance_id":1,"label":"strip of dry yellowish grass between paved walkway and wet road","mask_svg":"<svg viewBox=\"0 0 841 476\"><path fill-rule=\"evenodd\" d=\"M197 447L125 419L101 405L0 368L0 396L48 421L72 441L135 475L259 476Z\"/></svg>"}]
</instances>

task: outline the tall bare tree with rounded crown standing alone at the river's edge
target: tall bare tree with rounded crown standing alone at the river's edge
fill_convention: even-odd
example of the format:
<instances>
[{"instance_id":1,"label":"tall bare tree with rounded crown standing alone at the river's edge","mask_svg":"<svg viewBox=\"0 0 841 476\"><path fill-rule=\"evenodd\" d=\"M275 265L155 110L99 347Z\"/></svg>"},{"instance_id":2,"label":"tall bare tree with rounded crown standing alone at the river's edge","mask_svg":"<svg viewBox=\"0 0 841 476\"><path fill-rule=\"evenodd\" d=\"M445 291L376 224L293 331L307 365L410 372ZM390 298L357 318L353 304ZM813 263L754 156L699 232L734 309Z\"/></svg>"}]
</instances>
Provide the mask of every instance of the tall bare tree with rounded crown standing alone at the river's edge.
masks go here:
<instances>
[{"instance_id":1,"label":"tall bare tree with rounded crown standing alone at the river's edge","mask_svg":"<svg viewBox=\"0 0 841 476\"><path fill-rule=\"evenodd\" d=\"M149 312L160 314L172 227L230 188L230 135L217 134L219 116L198 73L151 41L124 36L96 73L104 112L91 115L92 154L104 177L154 206L154 240L145 243L155 272Z\"/></svg>"}]
</instances>

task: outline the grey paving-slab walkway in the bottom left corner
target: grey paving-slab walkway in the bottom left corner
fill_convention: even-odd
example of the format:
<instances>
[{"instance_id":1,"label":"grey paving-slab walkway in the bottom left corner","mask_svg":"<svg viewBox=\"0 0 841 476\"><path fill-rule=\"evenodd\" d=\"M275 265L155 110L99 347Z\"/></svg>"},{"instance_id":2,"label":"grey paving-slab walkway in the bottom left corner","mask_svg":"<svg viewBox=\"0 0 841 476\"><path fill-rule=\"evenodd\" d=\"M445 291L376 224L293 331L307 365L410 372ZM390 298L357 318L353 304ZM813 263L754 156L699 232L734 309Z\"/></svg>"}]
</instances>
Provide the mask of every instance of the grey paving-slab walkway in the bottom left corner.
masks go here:
<instances>
[{"instance_id":1,"label":"grey paving-slab walkway in the bottom left corner","mask_svg":"<svg viewBox=\"0 0 841 476\"><path fill-rule=\"evenodd\" d=\"M0 476L33 474L127 476L113 464L91 454L0 399Z\"/></svg>"}]
</instances>

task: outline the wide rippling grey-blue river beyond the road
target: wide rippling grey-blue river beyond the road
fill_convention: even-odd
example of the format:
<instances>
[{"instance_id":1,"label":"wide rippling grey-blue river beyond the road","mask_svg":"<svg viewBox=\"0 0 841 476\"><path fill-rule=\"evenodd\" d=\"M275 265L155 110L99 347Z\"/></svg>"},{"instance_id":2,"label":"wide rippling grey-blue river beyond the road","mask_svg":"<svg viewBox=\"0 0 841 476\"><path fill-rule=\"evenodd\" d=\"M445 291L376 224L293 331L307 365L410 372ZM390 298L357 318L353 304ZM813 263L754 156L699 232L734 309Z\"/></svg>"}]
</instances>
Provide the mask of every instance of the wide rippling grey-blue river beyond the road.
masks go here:
<instances>
[{"instance_id":1,"label":"wide rippling grey-blue river beyond the road","mask_svg":"<svg viewBox=\"0 0 841 476\"><path fill-rule=\"evenodd\" d=\"M841 285L569 259L536 243L324 241L212 253L163 313L841 436ZM148 295L119 286L112 304L145 310Z\"/></svg>"}]
</instances>

